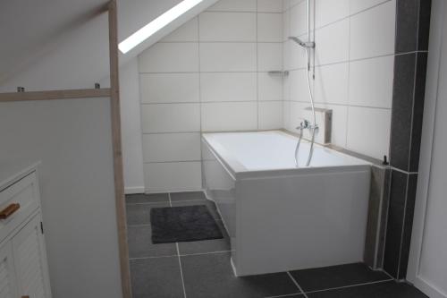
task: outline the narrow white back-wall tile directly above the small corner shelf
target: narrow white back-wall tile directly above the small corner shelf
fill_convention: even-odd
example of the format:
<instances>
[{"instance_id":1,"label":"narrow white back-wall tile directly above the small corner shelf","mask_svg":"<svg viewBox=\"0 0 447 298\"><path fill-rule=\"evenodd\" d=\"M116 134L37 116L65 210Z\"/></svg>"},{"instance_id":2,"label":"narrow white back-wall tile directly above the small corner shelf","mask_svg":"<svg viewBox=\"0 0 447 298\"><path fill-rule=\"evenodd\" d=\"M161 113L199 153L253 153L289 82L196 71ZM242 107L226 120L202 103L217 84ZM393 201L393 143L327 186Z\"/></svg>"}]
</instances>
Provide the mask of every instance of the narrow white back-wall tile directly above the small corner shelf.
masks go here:
<instances>
[{"instance_id":1,"label":"narrow white back-wall tile directly above the small corner shelf","mask_svg":"<svg viewBox=\"0 0 447 298\"><path fill-rule=\"evenodd\" d=\"M283 44L257 44L257 70L259 72L279 71L283 69Z\"/></svg>"}]
</instances>

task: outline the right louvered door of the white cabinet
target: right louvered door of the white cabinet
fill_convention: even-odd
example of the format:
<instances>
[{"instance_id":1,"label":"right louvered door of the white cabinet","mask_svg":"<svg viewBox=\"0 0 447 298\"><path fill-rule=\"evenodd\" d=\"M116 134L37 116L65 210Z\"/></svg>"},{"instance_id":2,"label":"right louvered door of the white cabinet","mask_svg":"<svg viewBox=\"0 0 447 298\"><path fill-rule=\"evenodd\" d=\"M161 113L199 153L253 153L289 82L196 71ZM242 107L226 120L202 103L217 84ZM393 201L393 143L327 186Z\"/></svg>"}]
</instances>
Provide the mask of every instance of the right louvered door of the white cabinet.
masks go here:
<instances>
[{"instance_id":1,"label":"right louvered door of the white cabinet","mask_svg":"<svg viewBox=\"0 0 447 298\"><path fill-rule=\"evenodd\" d=\"M13 259L19 296L50 298L48 268L40 215L13 237Z\"/></svg>"}]
</instances>

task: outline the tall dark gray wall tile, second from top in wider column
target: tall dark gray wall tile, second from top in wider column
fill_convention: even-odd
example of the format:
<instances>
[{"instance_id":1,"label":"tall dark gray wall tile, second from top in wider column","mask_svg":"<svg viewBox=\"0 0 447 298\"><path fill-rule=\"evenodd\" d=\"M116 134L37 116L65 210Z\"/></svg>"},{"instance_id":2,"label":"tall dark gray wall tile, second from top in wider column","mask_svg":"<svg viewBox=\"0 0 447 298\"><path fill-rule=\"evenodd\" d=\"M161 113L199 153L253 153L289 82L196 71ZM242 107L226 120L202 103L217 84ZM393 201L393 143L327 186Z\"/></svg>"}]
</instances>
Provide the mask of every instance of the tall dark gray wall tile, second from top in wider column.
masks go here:
<instances>
[{"instance_id":1,"label":"tall dark gray wall tile, second from top in wider column","mask_svg":"<svg viewBox=\"0 0 447 298\"><path fill-rule=\"evenodd\" d=\"M390 162L409 170L409 144L413 111L416 54L396 55L392 91L392 136Z\"/></svg>"}]
</instances>

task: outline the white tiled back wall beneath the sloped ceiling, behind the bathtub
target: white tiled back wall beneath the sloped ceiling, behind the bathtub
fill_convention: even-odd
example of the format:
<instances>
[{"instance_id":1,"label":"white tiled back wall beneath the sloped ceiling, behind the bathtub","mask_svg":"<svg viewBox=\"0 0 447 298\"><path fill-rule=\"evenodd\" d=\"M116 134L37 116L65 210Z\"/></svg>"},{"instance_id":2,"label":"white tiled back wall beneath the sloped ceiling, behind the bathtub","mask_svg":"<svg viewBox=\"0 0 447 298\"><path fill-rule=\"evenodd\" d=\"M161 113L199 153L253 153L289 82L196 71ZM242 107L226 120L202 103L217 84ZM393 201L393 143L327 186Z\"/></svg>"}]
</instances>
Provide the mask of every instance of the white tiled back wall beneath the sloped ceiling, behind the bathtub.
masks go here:
<instances>
[{"instance_id":1,"label":"white tiled back wall beneath the sloped ceiling, behind the bathtub","mask_svg":"<svg viewBox=\"0 0 447 298\"><path fill-rule=\"evenodd\" d=\"M199 132L283 126L282 11L222 0L139 55L146 191L201 189Z\"/></svg>"}]
</instances>

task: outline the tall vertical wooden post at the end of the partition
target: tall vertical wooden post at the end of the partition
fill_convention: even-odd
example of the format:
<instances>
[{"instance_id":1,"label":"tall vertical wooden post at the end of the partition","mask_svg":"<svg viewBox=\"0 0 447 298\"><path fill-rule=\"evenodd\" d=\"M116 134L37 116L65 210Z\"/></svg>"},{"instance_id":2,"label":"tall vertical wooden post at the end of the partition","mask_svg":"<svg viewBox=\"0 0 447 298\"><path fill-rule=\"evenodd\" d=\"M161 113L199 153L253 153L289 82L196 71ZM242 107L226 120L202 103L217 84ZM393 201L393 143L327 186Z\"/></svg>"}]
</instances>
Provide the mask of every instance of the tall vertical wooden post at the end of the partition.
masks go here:
<instances>
[{"instance_id":1,"label":"tall vertical wooden post at the end of the partition","mask_svg":"<svg viewBox=\"0 0 447 298\"><path fill-rule=\"evenodd\" d=\"M114 148L114 192L116 204L116 222L118 225L118 245L123 298L131 298L131 270L129 267L129 247L127 243L126 209L124 198L124 178L122 166L120 81L118 65L118 21L116 0L111 0L109 11L109 55L112 113L112 140Z\"/></svg>"}]
</instances>

